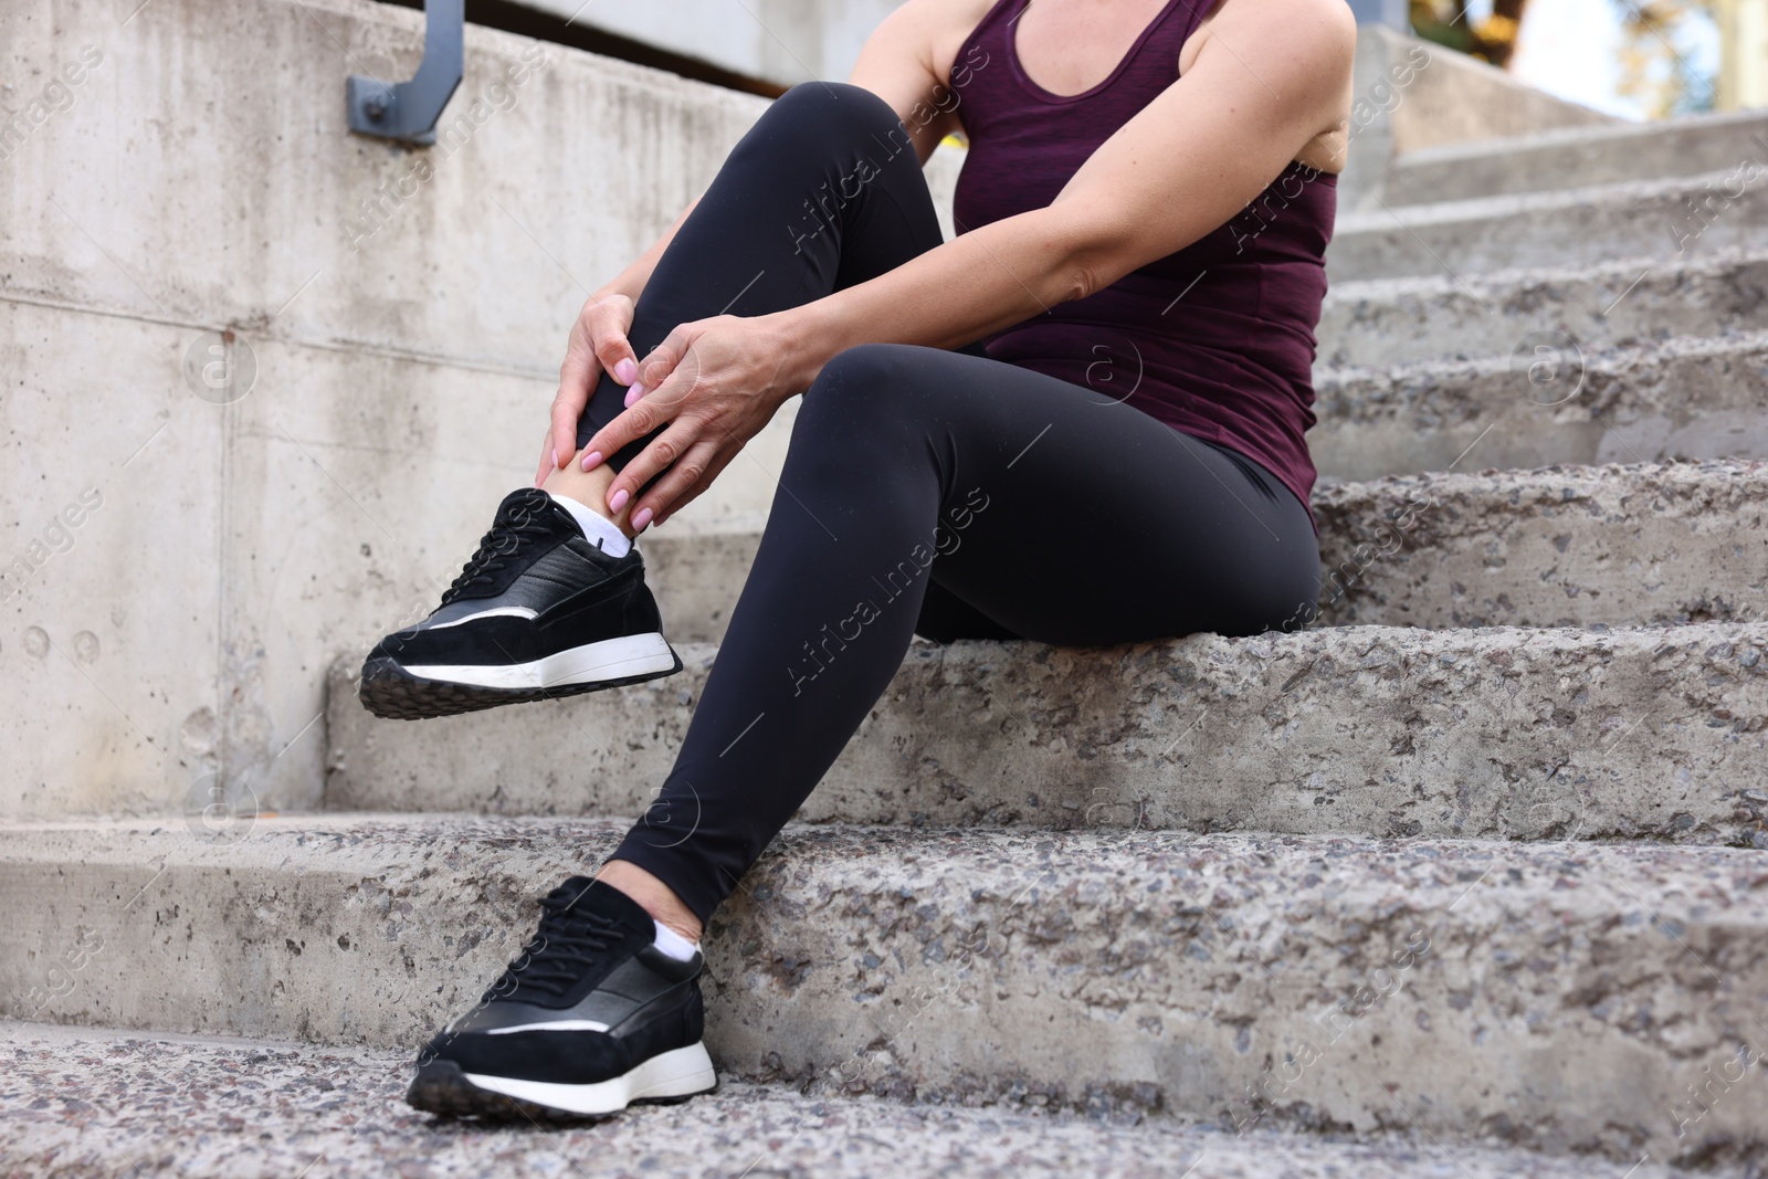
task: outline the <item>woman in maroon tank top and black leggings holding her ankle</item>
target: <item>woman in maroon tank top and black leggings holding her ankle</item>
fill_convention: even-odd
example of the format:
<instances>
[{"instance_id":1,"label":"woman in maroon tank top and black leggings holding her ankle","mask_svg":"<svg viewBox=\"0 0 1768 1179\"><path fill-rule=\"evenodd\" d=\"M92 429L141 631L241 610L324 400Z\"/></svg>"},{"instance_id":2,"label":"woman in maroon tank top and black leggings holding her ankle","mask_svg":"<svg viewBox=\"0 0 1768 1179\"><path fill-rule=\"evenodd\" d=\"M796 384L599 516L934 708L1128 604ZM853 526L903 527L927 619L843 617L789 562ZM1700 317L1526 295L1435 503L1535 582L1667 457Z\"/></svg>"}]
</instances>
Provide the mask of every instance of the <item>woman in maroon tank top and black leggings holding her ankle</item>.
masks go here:
<instances>
[{"instance_id":1,"label":"woman in maroon tank top and black leggings holding her ankle","mask_svg":"<svg viewBox=\"0 0 1768 1179\"><path fill-rule=\"evenodd\" d=\"M698 937L912 635L1109 645L1305 619L1303 431L1342 0L909 0L583 308L536 488L364 666L419 718L681 663L629 537L804 394L681 757L419 1061L446 1114L711 1089ZM1206 11L1208 9L1208 11ZM971 152L941 242L919 164Z\"/></svg>"}]
</instances>

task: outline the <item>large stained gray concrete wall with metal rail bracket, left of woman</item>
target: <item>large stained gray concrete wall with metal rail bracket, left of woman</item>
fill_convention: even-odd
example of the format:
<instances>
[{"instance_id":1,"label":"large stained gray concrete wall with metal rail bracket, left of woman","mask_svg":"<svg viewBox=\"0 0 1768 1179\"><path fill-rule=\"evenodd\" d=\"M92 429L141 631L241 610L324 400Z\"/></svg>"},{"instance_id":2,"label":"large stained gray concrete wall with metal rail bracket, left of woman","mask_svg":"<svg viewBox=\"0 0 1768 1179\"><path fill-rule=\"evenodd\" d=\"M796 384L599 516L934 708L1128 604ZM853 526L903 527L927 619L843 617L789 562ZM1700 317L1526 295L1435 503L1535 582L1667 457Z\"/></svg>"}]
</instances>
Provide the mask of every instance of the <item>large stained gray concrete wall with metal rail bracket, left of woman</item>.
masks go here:
<instances>
[{"instance_id":1,"label":"large stained gray concrete wall with metal rail bracket, left of woman","mask_svg":"<svg viewBox=\"0 0 1768 1179\"><path fill-rule=\"evenodd\" d=\"M764 108L469 28L412 152L343 88L417 12L129 9L0 9L0 817L313 802L327 663L433 605L585 288ZM223 329L249 385L203 382Z\"/></svg>"}]
</instances>

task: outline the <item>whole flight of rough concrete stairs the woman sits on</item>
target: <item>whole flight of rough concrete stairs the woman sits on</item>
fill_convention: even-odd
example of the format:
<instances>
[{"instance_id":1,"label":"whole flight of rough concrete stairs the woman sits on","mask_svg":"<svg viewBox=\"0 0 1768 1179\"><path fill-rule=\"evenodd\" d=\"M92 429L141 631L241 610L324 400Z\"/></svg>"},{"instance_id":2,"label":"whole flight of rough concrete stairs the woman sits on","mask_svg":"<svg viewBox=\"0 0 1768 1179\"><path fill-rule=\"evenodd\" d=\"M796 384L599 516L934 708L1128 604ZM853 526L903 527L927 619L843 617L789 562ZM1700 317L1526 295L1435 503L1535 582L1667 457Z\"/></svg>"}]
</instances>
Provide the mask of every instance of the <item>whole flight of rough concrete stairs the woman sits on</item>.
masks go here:
<instances>
[{"instance_id":1,"label":"whole flight of rough concrete stairs the woman sits on","mask_svg":"<svg viewBox=\"0 0 1768 1179\"><path fill-rule=\"evenodd\" d=\"M721 1094L545 1140L398 1103L645 811L730 513L645 539L677 677L401 725L343 654L325 810L0 827L0 1170L1759 1174L1768 202L1713 193L1763 126L1400 157L1331 247L1321 620L918 643L709 930Z\"/></svg>"}]
</instances>

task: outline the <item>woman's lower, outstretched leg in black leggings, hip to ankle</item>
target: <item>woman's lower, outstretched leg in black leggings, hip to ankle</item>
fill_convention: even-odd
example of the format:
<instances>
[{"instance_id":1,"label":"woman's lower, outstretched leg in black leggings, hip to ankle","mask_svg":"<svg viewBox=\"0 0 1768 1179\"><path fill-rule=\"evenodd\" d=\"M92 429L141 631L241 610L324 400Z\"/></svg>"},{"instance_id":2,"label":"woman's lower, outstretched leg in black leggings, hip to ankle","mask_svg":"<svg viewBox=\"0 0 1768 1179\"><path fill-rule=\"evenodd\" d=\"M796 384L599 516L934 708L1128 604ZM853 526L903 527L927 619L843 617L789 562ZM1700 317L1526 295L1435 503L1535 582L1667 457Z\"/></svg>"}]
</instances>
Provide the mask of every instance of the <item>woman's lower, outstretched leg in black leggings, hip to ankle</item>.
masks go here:
<instances>
[{"instance_id":1,"label":"woman's lower, outstretched leg in black leggings, hip to ankle","mask_svg":"<svg viewBox=\"0 0 1768 1179\"><path fill-rule=\"evenodd\" d=\"M1087 389L866 345L804 396L750 580L658 804L615 861L702 921L942 626L1107 645L1282 626L1319 590L1275 477ZM949 594L974 613L953 620Z\"/></svg>"}]
</instances>

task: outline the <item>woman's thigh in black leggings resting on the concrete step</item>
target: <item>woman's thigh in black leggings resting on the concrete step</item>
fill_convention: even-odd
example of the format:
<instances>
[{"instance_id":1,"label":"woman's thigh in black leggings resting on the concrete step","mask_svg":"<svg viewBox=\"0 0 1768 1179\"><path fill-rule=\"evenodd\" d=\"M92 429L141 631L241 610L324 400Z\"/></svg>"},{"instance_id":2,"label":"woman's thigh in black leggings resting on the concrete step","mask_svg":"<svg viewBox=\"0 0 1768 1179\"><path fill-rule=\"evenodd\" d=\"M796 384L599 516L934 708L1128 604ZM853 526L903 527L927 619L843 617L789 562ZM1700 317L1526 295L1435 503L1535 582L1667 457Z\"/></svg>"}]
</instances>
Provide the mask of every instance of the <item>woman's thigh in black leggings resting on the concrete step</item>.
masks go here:
<instances>
[{"instance_id":1,"label":"woman's thigh in black leggings resting on the concrete step","mask_svg":"<svg viewBox=\"0 0 1768 1179\"><path fill-rule=\"evenodd\" d=\"M1312 612L1312 520L1257 463L1054 377L905 352L895 396L941 472L934 587L972 619L1109 645Z\"/></svg>"}]
</instances>

